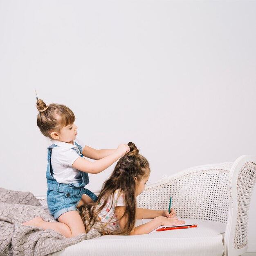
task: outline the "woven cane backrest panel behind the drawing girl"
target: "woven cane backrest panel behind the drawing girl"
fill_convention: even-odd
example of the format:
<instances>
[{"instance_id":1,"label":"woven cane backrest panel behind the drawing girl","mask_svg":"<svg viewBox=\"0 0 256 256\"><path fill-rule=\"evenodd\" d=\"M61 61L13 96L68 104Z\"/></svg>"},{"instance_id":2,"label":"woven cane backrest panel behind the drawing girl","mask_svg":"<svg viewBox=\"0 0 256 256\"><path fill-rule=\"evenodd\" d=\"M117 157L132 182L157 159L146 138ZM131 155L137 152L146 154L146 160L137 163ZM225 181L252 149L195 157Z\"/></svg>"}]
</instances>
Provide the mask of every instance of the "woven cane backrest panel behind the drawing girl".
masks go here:
<instances>
[{"instance_id":1,"label":"woven cane backrest panel behind the drawing girl","mask_svg":"<svg viewBox=\"0 0 256 256\"><path fill-rule=\"evenodd\" d=\"M226 223L229 210L229 171L211 169L188 173L165 184L144 189L137 206L146 209L172 208L179 218L213 220Z\"/></svg>"}]
</instances>

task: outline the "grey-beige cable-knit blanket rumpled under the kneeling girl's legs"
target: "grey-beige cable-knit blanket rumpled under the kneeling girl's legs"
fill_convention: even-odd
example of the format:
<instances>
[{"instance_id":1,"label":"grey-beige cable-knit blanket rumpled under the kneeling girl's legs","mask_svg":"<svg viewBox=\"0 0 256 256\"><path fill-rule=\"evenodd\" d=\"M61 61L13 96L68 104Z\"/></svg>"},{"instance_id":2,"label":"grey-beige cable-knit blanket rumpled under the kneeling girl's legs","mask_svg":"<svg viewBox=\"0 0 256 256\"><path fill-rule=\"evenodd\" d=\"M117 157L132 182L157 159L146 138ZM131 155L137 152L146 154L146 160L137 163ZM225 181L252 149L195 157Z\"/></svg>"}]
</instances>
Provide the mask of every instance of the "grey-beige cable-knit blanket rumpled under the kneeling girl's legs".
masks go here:
<instances>
[{"instance_id":1,"label":"grey-beige cable-knit blanket rumpled under the kneeling girl's legs","mask_svg":"<svg viewBox=\"0 0 256 256\"><path fill-rule=\"evenodd\" d=\"M21 225L37 216L56 221L32 193L0 188L0 256L43 256L100 236L97 230L91 229L88 234L65 238L52 229Z\"/></svg>"}]
</instances>

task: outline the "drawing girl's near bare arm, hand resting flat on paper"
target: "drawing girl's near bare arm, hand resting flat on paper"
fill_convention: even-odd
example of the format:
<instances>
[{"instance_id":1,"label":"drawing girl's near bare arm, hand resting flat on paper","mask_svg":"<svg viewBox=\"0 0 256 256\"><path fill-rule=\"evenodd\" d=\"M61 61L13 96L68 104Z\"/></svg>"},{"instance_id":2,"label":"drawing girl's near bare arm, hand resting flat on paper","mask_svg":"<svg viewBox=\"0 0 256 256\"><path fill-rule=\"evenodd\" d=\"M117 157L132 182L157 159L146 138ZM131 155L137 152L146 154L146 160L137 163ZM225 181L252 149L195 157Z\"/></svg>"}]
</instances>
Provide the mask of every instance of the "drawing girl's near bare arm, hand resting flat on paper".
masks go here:
<instances>
[{"instance_id":1,"label":"drawing girl's near bare arm, hand resting flat on paper","mask_svg":"<svg viewBox=\"0 0 256 256\"><path fill-rule=\"evenodd\" d=\"M119 219L119 225L121 229L123 229L126 226L126 223L128 221L126 220L125 217L121 218L124 215L125 211L126 211L126 207L123 207L123 206L117 206L115 209L115 213L117 214L117 218ZM139 225L138 227L134 227L132 232L129 235L148 234L160 226L174 226L174 225L182 225L184 223L185 223L184 220L178 220L177 218L166 218L164 216L158 216L153 220L151 220L150 222Z\"/></svg>"}]
</instances>

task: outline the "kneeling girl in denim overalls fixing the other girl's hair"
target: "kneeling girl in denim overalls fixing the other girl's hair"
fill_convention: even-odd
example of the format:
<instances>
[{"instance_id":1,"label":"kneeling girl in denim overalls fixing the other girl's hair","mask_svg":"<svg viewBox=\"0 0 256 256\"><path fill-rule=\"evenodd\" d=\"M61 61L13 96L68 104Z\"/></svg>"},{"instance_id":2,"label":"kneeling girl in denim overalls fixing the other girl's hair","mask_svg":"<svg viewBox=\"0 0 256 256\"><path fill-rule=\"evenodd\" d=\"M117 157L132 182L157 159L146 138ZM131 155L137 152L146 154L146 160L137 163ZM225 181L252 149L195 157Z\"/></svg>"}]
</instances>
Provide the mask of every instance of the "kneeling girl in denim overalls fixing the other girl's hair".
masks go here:
<instances>
[{"instance_id":1,"label":"kneeling girl in denim overalls fixing the other girl's hair","mask_svg":"<svg viewBox=\"0 0 256 256\"><path fill-rule=\"evenodd\" d=\"M130 150L127 144L117 149L96 150L76 138L75 116L70 108L61 104L49 104L37 99L39 111L37 126L53 144L48 147L47 205L58 222L46 222L36 217L23 225L54 229L65 237L85 233L83 220L76 207L96 201L98 198L85 189L89 183L88 173L100 173ZM90 162L83 158L97 160Z\"/></svg>"}]
</instances>

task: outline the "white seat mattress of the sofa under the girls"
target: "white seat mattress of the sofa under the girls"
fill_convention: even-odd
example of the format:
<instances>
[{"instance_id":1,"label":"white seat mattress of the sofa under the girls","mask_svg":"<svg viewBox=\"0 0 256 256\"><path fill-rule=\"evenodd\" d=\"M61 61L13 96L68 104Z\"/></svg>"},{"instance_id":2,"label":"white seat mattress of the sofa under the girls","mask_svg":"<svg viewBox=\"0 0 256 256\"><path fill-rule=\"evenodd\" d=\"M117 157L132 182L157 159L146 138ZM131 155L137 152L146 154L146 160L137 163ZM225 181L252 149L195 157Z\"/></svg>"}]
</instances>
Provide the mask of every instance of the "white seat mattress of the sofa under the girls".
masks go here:
<instances>
[{"instance_id":1,"label":"white seat mattress of the sofa under the girls","mask_svg":"<svg viewBox=\"0 0 256 256\"><path fill-rule=\"evenodd\" d=\"M141 220L137 220L140 225ZM191 229L158 231L138 236L101 236L56 252L54 256L222 256L225 224L189 220L198 224Z\"/></svg>"}]
</instances>

